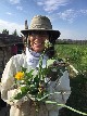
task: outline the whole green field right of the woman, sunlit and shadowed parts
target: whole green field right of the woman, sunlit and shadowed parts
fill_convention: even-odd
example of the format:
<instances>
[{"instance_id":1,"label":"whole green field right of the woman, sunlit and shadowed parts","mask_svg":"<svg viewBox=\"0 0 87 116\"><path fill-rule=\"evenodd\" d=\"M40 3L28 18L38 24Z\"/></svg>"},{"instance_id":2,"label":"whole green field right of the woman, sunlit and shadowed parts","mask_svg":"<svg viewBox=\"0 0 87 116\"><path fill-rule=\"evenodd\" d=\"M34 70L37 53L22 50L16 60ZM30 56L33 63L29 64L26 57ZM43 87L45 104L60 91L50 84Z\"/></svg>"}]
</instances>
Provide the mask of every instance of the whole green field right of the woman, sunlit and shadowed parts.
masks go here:
<instances>
[{"instance_id":1,"label":"whole green field right of the woman, sunlit and shadowed parts","mask_svg":"<svg viewBox=\"0 0 87 116\"><path fill-rule=\"evenodd\" d=\"M78 70L75 78L70 78L72 93L66 104L87 113L87 44L55 44L55 50L57 57L62 57ZM83 116L66 108L60 112L60 116Z\"/></svg>"}]
</instances>

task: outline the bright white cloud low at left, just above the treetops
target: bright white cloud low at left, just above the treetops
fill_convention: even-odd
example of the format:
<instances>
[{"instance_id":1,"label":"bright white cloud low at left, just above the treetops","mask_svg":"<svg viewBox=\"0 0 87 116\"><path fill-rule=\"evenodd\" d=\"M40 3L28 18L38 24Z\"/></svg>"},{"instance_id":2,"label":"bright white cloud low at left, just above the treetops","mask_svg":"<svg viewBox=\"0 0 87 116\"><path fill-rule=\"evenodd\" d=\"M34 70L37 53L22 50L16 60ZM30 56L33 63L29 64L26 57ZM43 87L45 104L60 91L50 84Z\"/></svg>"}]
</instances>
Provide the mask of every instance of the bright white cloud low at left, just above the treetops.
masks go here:
<instances>
[{"instance_id":1,"label":"bright white cloud low at left, just above the treetops","mask_svg":"<svg viewBox=\"0 0 87 116\"><path fill-rule=\"evenodd\" d=\"M2 33L3 29L8 29L9 34L12 34L16 29L20 35L21 30L24 29L24 25L0 20L0 33Z\"/></svg>"}]
</instances>

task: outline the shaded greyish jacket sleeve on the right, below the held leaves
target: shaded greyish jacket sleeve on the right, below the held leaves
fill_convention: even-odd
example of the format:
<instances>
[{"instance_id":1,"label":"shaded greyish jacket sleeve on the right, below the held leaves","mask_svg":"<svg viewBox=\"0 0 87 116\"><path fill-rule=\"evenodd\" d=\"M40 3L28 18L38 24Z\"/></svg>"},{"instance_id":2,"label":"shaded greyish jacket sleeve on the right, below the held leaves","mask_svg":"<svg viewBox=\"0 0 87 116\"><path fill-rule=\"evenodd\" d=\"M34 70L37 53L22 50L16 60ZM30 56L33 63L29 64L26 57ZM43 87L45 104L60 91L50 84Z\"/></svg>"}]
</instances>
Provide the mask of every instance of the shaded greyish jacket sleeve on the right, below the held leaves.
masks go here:
<instances>
[{"instance_id":1,"label":"shaded greyish jacket sleeve on the right, below the held leaves","mask_svg":"<svg viewBox=\"0 0 87 116\"><path fill-rule=\"evenodd\" d=\"M54 94L55 101L60 104L65 104L71 94L70 78L67 70L63 73L63 76L59 79L53 89L55 92L60 92L60 94Z\"/></svg>"}]
</instances>

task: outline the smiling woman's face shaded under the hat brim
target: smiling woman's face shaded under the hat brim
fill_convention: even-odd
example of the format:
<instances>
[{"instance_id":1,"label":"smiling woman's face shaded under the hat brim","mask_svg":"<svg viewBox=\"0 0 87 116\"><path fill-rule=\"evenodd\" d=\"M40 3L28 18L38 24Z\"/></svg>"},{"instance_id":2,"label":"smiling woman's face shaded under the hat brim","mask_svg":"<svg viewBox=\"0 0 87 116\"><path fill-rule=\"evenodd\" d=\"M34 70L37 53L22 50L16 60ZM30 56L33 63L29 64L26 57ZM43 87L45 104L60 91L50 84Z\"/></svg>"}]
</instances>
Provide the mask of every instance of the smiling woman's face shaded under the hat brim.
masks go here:
<instances>
[{"instance_id":1,"label":"smiling woman's face shaded under the hat brim","mask_svg":"<svg viewBox=\"0 0 87 116\"><path fill-rule=\"evenodd\" d=\"M34 31L29 35L30 48L35 52L41 52L45 49L45 41L49 35L45 31Z\"/></svg>"}]
</instances>

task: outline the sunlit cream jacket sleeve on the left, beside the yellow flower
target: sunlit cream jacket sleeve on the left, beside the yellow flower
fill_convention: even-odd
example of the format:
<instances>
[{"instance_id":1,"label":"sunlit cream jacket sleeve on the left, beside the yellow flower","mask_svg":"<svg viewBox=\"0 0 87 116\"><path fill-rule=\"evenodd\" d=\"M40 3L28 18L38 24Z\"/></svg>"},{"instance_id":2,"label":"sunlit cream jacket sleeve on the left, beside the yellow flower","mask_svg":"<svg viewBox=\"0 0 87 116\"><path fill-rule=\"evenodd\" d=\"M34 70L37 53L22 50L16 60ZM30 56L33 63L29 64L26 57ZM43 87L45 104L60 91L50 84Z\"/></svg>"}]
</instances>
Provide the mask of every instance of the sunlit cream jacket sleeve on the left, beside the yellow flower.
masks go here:
<instances>
[{"instance_id":1,"label":"sunlit cream jacket sleeve on the left, beside the yellow flower","mask_svg":"<svg viewBox=\"0 0 87 116\"><path fill-rule=\"evenodd\" d=\"M12 56L7 63L1 78L1 99L10 105L21 105L23 102L23 100L11 100L17 92L17 89L12 89L15 73L16 65L14 63L14 57Z\"/></svg>"}]
</instances>

